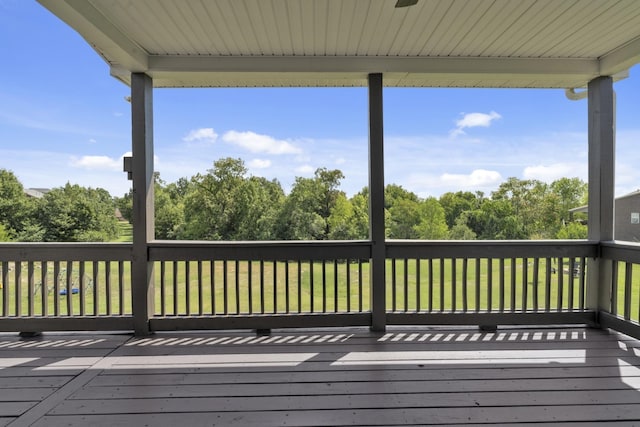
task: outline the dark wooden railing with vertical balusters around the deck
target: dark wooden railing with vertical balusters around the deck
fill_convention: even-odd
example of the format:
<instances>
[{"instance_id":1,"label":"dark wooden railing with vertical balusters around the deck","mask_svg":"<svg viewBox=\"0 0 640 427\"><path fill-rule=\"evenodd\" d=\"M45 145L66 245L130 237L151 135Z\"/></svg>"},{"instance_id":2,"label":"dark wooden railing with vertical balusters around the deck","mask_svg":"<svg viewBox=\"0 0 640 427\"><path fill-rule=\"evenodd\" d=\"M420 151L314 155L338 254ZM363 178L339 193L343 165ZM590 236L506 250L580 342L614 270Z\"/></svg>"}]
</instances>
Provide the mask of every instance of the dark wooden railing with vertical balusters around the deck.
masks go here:
<instances>
[{"instance_id":1,"label":"dark wooden railing with vertical balusters around the deck","mask_svg":"<svg viewBox=\"0 0 640 427\"><path fill-rule=\"evenodd\" d=\"M0 244L0 330L129 329L128 244ZM640 246L388 241L388 324L588 323L589 265L611 260L605 314L640 319ZM148 245L151 329L369 325L371 243ZM147 262L147 261L145 261ZM586 314L585 314L586 313Z\"/></svg>"}]
</instances>

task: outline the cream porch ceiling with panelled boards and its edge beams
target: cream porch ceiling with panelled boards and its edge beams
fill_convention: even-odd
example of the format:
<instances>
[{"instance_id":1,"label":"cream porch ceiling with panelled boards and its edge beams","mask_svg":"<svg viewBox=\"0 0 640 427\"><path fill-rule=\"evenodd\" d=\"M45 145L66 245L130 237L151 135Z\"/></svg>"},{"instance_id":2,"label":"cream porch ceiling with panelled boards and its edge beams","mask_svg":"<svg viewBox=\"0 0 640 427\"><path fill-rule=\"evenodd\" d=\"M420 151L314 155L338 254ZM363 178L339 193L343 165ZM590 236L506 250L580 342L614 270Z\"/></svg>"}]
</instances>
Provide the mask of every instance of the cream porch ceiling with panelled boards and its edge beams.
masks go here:
<instances>
[{"instance_id":1,"label":"cream porch ceiling with panelled boards and its edge beams","mask_svg":"<svg viewBox=\"0 0 640 427\"><path fill-rule=\"evenodd\" d=\"M38 0L125 83L579 88L640 61L637 0Z\"/></svg>"}]
</instances>

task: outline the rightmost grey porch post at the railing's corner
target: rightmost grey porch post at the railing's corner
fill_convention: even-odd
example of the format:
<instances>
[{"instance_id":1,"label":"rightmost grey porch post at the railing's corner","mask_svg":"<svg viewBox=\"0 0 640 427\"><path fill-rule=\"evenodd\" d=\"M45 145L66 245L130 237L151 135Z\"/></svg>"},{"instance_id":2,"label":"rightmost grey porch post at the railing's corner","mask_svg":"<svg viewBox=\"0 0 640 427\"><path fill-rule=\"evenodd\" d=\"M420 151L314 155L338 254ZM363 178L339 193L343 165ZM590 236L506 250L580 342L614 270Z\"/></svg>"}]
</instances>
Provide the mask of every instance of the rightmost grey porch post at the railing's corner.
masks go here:
<instances>
[{"instance_id":1,"label":"rightmost grey porch post at the railing's corner","mask_svg":"<svg viewBox=\"0 0 640 427\"><path fill-rule=\"evenodd\" d=\"M589 82L589 219L588 239L613 240L615 184L615 99L613 79L598 77ZM611 261L590 260L587 277L587 308L610 311Z\"/></svg>"}]
</instances>

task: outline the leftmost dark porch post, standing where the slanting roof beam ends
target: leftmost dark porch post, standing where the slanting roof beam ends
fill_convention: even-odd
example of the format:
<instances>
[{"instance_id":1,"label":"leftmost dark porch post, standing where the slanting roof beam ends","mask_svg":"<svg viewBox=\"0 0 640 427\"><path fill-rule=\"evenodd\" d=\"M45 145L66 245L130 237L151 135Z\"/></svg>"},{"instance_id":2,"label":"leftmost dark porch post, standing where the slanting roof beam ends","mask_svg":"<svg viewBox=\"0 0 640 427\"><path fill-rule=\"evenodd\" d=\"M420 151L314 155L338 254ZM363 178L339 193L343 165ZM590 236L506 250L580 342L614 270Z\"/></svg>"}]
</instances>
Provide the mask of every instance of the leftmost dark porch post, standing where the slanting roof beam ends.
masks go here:
<instances>
[{"instance_id":1,"label":"leftmost dark porch post, standing where the slanting roof beam ends","mask_svg":"<svg viewBox=\"0 0 640 427\"><path fill-rule=\"evenodd\" d=\"M149 242L154 236L153 82L144 73L131 74L131 136L133 178L132 304L136 335L148 335L154 312L153 263Z\"/></svg>"}]
</instances>

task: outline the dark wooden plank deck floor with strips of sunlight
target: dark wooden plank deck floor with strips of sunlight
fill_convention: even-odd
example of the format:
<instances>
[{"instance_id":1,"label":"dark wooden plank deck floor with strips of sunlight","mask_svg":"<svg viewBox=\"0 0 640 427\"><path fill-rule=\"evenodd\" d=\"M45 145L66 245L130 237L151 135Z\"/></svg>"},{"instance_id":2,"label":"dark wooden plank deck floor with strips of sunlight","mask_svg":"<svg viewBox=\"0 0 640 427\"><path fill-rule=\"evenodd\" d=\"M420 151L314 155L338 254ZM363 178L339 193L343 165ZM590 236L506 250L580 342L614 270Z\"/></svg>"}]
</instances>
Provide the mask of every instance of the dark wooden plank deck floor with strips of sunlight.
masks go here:
<instances>
[{"instance_id":1,"label":"dark wooden plank deck floor with strips of sunlight","mask_svg":"<svg viewBox=\"0 0 640 427\"><path fill-rule=\"evenodd\" d=\"M640 425L640 343L591 329L0 335L0 426Z\"/></svg>"}]
</instances>

